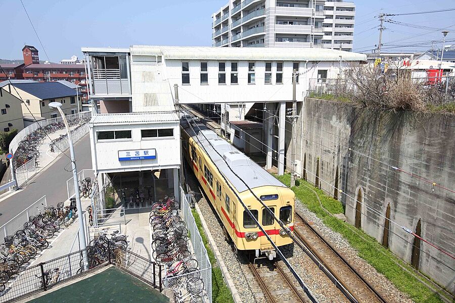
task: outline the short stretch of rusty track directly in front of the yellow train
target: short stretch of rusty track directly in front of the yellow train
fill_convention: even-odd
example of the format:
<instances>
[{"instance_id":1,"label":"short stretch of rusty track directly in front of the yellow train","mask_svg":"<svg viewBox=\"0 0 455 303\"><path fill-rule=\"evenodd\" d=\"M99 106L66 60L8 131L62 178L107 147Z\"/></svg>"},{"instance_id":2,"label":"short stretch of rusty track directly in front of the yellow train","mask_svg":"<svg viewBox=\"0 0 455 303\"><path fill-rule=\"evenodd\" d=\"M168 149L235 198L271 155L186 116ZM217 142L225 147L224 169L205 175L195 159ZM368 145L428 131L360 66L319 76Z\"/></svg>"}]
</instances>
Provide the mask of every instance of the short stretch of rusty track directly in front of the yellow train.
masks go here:
<instances>
[{"instance_id":1,"label":"short stretch of rusty track directly in front of the yellow train","mask_svg":"<svg viewBox=\"0 0 455 303\"><path fill-rule=\"evenodd\" d=\"M296 287L297 281L286 274L280 263L264 262L260 266L251 262L248 264L267 300L270 303L309 302L302 290Z\"/></svg>"}]
</instances>

